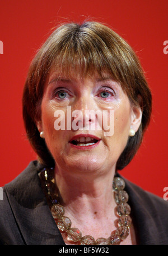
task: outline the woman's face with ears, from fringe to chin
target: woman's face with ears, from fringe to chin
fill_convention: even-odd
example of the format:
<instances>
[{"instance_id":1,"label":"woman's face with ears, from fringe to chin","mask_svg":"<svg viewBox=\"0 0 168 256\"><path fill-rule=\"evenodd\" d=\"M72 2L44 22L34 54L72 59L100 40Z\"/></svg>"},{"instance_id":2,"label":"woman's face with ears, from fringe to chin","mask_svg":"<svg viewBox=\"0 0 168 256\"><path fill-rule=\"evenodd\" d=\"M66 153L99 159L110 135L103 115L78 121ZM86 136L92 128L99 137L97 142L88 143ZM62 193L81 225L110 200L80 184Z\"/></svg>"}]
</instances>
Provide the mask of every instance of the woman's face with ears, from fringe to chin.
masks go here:
<instances>
[{"instance_id":1,"label":"woman's face with ears, from fringe to chin","mask_svg":"<svg viewBox=\"0 0 168 256\"><path fill-rule=\"evenodd\" d=\"M137 131L140 123L141 110L130 105L120 84L108 74L104 79L97 73L82 79L74 73L69 79L53 71L45 84L37 126L44 131L58 168L105 172L115 168L129 129ZM105 124L110 125L109 133Z\"/></svg>"}]
</instances>

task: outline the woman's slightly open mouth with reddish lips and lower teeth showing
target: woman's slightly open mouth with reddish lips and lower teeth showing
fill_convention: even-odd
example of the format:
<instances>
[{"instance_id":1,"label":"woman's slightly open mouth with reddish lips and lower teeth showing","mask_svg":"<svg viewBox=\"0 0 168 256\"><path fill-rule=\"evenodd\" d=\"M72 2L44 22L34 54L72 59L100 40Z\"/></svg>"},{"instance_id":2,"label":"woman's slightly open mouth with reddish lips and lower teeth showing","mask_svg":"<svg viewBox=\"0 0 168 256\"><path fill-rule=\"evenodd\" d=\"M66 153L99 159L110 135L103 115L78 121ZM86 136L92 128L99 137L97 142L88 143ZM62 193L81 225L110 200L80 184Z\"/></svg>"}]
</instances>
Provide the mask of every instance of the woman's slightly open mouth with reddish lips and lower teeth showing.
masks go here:
<instances>
[{"instance_id":1,"label":"woman's slightly open mouth with reddish lips and lower teeth showing","mask_svg":"<svg viewBox=\"0 0 168 256\"><path fill-rule=\"evenodd\" d=\"M100 138L90 134L78 134L71 138L69 143L73 147L81 147L81 149L88 149L99 144Z\"/></svg>"}]
</instances>

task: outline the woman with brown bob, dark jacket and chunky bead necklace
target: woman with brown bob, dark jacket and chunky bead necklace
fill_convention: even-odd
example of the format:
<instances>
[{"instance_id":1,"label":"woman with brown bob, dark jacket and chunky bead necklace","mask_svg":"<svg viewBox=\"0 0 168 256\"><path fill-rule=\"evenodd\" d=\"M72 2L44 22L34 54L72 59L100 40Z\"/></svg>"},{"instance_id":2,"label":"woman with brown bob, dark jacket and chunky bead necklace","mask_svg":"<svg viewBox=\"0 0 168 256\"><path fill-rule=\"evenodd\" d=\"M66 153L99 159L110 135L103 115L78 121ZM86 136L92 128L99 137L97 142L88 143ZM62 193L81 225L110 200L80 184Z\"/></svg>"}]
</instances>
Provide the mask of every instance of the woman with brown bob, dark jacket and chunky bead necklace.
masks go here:
<instances>
[{"instance_id":1,"label":"woman with brown bob, dark jacket and chunky bead necklace","mask_svg":"<svg viewBox=\"0 0 168 256\"><path fill-rule=\"evenodd\" d=\"M117 172L141 145L151 102L113 30L56 29L27 75L23 115L38 161L4 186L1 244L168 244L167 202Z\"/></svg>"}]
</instances>

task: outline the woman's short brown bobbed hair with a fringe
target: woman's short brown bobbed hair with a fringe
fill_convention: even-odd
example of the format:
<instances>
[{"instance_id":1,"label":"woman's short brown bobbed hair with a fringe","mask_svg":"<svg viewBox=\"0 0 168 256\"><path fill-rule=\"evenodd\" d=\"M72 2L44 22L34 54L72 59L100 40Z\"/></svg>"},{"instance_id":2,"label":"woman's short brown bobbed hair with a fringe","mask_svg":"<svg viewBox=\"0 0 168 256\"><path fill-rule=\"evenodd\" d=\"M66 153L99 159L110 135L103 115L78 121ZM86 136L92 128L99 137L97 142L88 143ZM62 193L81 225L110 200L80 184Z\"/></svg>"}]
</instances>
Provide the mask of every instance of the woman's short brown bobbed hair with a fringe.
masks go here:
<instances>
[{"instance_id":1,"label":"woman's short brown bobbed hair with a fringe","mask_svg":"<svg viewBox=\"0 0 168 256\"><path fill-rule=\"evenodd\" d=\"M103 77L106 72L121 84L133 105L141 106L141 125L136 135L128 138L116 164L116 169L123 169L141 145L152 110L151 92L132 48L108 26L94 21L63 24L40 48L32 60L24 87L23 118L31 146L48 167L54 166L55 162L45 140L39 136L36 121L40 119L45 81L53 67L61 68L68 75L76 69L82 76L95 70Z\"/></svg>"}]
</instances>

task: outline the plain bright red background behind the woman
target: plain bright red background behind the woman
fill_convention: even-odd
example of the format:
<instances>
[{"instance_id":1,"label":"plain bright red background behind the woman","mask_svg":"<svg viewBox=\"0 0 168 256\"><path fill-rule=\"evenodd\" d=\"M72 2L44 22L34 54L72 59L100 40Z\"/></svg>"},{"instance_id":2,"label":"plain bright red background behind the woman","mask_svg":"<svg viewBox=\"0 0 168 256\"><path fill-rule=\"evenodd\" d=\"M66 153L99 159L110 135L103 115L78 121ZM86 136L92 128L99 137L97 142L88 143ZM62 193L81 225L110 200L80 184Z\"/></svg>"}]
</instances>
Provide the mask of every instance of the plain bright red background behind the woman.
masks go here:
<instances>
[{"instance_id":1,"label":"plain bright red background behind the woman","mask_svg":"<svg viewBox=\"0 0 168 256\"><path fill-rule=\"evenodd\" d=\"M142 188L163 196L167 175L167 0L1 0L0 186L10 182L36 159L22 122L22 89L36 50L62 21L87 17L109 24L134 48L153 95L152 120L138 154L121 174Z\"/></svg>"}]
</instances>

